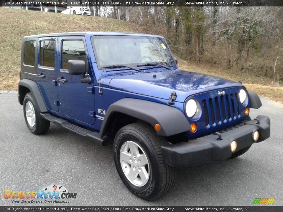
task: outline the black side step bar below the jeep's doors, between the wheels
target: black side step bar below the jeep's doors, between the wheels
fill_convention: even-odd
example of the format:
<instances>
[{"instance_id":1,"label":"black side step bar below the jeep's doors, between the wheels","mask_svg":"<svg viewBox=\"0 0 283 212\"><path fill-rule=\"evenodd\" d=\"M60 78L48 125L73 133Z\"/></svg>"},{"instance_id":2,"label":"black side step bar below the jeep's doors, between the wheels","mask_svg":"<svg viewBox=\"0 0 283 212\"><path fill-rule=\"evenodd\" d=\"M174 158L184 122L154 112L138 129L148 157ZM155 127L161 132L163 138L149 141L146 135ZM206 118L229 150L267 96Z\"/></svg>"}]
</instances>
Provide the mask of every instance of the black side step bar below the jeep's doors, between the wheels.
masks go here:
<instances>
[{"instance_id":1,"label":"black side step bar below the jeep's doors, between the wheels","mask_svg":"<svg viewBox=\"0 0 283 212\"><path fill-rule=\"evenodd\" d=\"M57 118L51 115L50 113L40 113L40 116L56 125L60 125L79 135L90 138L91 140L93 140L95 143L99 145L106 146L112 143L112 140L109 136L103 136L102 138L100 138L99 132L93 132L90 130L86 130L82 127L78 127L77 125L71 124L65 119Z\"/></svg>"}]
</instances>

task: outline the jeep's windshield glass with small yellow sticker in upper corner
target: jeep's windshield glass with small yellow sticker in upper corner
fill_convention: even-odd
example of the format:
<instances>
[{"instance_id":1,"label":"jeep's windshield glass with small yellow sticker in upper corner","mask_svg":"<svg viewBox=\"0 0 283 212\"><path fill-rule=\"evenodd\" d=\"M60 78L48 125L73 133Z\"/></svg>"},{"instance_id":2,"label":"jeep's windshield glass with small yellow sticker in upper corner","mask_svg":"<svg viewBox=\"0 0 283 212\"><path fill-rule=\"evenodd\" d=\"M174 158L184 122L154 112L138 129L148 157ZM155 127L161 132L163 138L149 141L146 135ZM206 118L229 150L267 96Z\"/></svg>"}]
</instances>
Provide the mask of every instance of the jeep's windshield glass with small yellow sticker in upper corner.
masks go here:
<instances>
[{"instance_id":1,"label":"jeep's windshield glass with small yellow sticker in upper corner","mask_svg":"<svg viewBox=\"0 0 283 212\"><path fill-rule=\"evenodd\" d=\"M175 61L163 38L100 35L91 37L98 68L146 63L173 65Z\"/></svg>"}]
</instances>

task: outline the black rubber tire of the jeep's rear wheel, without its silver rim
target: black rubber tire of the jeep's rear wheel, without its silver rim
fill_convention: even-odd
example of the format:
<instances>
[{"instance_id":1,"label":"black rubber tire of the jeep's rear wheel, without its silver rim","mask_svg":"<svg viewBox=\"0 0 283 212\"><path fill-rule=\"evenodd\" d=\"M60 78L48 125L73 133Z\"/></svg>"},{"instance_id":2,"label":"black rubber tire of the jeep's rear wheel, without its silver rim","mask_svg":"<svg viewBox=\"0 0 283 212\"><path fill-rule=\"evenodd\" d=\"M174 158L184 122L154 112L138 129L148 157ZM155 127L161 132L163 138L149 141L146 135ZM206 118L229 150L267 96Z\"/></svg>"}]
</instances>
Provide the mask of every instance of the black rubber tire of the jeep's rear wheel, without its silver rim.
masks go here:
<instances>
[{"instance_id":1,"label":"black rubber tire of the jeep's rear wheel, without its silver rim","mask_svg":"<svg viewBox=\"0 0 283 212\"><path fill-rule=\"evenodd\" d=\"M30 125L27 120L27 116L26 116L27 102L30 102L32 104L32 107L34 108L34 114L35 114L34 125L33 124ZM36 134L36 135L44 134L45 132L47 132L50 126L50 122L43 119L40 116L40 112L39 112L37 103L34 100L34 97L31 95L31 93L27 93L25 95L23 107L24 107L24 119L26 121L27 127L29 128L29 131L31 131L33 134Z\"/></svg>"}]
</instances>

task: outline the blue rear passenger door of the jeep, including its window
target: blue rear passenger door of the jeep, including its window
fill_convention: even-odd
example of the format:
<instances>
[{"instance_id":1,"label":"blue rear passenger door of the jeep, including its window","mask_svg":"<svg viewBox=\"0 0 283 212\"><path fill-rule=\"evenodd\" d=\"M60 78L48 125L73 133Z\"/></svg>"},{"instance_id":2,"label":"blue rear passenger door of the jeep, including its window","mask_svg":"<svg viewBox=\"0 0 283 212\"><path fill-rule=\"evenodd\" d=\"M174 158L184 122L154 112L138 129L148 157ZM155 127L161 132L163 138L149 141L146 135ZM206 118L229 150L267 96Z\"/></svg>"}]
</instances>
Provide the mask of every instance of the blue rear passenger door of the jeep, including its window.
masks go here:
<instances>
[{"instance_id":1,"label":"blue rear passenger door of the jeep, including its window","mask_svg":"<svg viewBox=\"0 0 283 212\"><path fill-rule=\"evenodd\" d=\"M59 102L56 87L57 37L39 38L37 55L37 84L48 110L58 112Z\"/></svg>"}]
</instances>

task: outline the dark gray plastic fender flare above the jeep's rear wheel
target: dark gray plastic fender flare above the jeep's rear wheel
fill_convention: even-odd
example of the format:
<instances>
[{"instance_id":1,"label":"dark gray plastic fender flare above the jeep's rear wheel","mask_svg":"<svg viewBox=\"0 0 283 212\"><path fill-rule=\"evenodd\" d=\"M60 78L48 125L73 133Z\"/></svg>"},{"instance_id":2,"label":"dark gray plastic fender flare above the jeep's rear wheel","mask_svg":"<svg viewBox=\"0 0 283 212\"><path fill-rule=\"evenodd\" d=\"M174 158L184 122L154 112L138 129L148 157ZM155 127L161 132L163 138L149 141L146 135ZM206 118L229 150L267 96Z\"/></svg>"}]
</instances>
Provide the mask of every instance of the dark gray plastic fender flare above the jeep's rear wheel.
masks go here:
<instances>
[{"instance_id":1,"label":"dark gray plastic fender flare above the jeep's rear wheel","mask_svg":"<svg viewBox=\"0 0 283 212\"><path fill-rule=\"evenodd\" d=\"M42 98L42 95L40 93L39 87L36 82L28 79L24 79L19 81L18 85L18 100L21 105L24 103L24 96L26 95L26 88L29 89L31 92L32 96L37 102L38 108L40 112L47 112L47 108L45 105L45 102Z\"/></svg>"}]
</instances>

